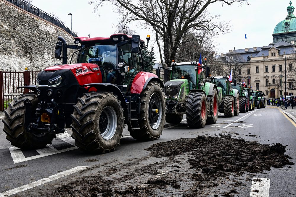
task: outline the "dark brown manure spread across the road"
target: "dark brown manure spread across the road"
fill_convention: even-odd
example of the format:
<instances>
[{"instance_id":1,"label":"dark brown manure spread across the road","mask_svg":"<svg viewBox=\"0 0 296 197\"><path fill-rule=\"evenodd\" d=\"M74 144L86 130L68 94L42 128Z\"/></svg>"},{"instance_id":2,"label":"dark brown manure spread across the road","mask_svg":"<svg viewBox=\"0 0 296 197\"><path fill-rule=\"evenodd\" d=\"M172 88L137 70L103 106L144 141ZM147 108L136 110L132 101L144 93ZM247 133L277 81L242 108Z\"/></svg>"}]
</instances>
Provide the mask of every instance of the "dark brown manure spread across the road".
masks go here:
<instances>
[{"instance_id":1,"label":"dark brown manure spread across the road","mask_svg":"<svg viewBox=\"0 0 296 197\"><path fill-rule=\"evenodd\" d=\"M252 173L294 165L285 148L228 136L156 143L148 148L150 157L101 165L91 175L40 195L242 196L257 176Z\"/></svg>"}]
</instances>

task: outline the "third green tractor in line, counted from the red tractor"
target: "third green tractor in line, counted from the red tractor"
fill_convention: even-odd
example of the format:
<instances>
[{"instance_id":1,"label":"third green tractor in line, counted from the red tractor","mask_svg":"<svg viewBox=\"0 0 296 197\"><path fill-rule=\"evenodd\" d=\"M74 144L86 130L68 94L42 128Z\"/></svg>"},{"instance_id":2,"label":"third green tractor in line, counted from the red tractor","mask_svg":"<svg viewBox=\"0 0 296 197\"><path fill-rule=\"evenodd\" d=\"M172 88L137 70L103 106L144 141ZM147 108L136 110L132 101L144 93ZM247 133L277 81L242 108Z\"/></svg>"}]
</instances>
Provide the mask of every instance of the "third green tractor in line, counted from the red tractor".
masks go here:
<instances>
[{"instance_id":1,"label":"third green tractor in line, counted from the red tractor","mask_svg":"<svg viewBox=\"0 0 296 197\"><path fill-rule=\"evenodd\" d=\"M245 113L249 111L249 94L248 92L244 91L244 84L239 82L237 83L234 80L231 83L232 88L237 89L239 92L239 112Z\"/></svg>"}]
</instances>

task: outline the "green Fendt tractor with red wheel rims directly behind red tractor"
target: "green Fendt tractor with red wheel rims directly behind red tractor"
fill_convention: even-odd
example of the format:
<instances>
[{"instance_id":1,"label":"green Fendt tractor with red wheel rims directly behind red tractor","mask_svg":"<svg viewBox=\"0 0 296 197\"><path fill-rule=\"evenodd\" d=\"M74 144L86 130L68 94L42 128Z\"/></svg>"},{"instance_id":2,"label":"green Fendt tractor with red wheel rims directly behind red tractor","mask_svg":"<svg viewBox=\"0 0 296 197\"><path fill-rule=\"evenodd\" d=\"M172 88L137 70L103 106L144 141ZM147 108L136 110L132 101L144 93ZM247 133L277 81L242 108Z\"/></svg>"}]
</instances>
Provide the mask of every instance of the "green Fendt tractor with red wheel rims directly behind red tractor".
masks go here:
<instances>
[{"instance_id":1,"label":"green Fendt tractor with red wheel rims directly behind red tractor","mask_svg":"<svg viewBox=\"0 0 296 197\"><path fill-rule=\"evenodd\" d=\"M210 76L210 68L198 66L196 61L173 61L169 69L169 81L164 85L165 121L178 124L186 114L190 128L202 128L205 124L216 123L218 89L215 84L206 82L206 77Z\"/></svg>"}]
</instances>

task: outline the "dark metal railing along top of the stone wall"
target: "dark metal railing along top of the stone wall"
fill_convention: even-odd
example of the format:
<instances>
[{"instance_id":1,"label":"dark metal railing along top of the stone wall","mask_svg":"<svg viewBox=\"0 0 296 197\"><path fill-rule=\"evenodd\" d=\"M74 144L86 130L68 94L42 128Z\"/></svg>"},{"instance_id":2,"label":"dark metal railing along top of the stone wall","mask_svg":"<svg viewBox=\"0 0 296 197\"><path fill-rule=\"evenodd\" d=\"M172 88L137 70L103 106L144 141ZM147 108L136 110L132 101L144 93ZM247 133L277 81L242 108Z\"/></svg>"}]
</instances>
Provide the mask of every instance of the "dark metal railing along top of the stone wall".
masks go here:
<instances>
[{"instance_id":1,"label":"dark metal railing along top of the stone wall","mask_svg":"<svg viewBox=\"0 0 296 197\"><path fill-rule=\"evenodd\" d=\"M32 4L28 3L27 1L24 0L5 0L11 4L14 4L15 6L30 12L31 14L34 14L41 19L44 19L60 28L62 28L65 32L69 33L73 37L77 37L77 35L72 32L66 25L64 25L62 22L60 22L58 19L54 18L52 15L44 12L43 10L33 6Z\"/></svg>"}]
</instances>

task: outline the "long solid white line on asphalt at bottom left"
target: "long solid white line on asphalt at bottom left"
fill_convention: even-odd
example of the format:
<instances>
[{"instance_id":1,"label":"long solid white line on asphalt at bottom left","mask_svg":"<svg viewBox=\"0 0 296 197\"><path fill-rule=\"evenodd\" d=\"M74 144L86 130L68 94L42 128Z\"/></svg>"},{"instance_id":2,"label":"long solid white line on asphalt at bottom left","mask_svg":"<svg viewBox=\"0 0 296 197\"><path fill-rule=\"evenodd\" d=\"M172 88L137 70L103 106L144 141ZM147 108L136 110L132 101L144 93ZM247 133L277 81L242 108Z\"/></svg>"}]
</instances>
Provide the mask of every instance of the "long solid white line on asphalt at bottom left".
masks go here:
<instances>
[{"instance_id":1,"label":"long solid white line on asphalt at bottom left","mask_svg":"<svg viewBox=\"0 0 296 197\"><path fill-rule=\"evenodd\" d=\"M70 170L66 170L64 172L59 172L59 173L57 173L55 175L52 175L52 176L49 176L49 177L46 177L46 178L43 178L43 179L34 181L34 182L29 183L27 185L23 185L23 186L20 186L18 188L14 188L12 190L8 190L6 192L0 193L0 197L14 195L16 193L19 193L19 192L22 192L22 191L25 191L25 190L28 190L28 189L37 187L37 186L42 185L44 183L48 183L50 181L53 181L53 180L62 178L64 176L73 174L75 172L79 172L81 170L85 170L86 168L89 168L89 166L77 166L77 167L71 168Z\"/></svg>"}]
</instances>

